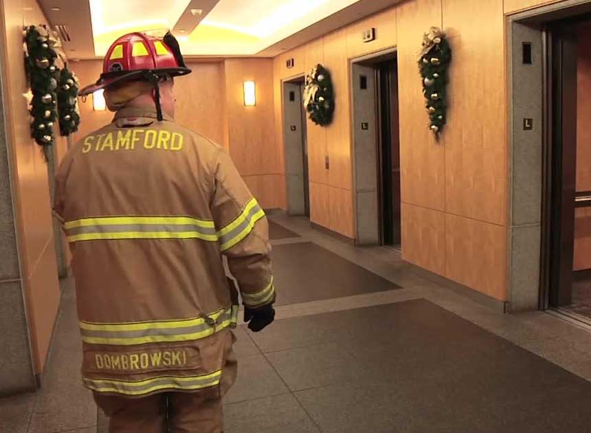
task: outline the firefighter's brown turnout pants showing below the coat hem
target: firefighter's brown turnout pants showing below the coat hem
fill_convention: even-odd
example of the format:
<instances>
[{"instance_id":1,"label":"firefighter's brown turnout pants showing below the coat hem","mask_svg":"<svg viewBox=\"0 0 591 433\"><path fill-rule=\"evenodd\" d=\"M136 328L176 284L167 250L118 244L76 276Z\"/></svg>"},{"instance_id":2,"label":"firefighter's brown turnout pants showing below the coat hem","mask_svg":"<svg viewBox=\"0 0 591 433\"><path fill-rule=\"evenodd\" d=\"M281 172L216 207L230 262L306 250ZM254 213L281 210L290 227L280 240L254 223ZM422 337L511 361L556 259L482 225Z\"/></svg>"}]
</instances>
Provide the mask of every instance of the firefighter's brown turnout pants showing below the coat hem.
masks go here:
<instances>
[{"instance_id":1,"label":"firefighter's brown turnout pants showing below the coat hem","mask_svg":"<svg viewBox=\"0 0 591 433\"><path fill-rule=\"evenodd\" d=\"M127 399L95 393L94 399L109 417L109 433L222 433L222 400L212 394L165 392Z\"/></svg>"}]
</instances>

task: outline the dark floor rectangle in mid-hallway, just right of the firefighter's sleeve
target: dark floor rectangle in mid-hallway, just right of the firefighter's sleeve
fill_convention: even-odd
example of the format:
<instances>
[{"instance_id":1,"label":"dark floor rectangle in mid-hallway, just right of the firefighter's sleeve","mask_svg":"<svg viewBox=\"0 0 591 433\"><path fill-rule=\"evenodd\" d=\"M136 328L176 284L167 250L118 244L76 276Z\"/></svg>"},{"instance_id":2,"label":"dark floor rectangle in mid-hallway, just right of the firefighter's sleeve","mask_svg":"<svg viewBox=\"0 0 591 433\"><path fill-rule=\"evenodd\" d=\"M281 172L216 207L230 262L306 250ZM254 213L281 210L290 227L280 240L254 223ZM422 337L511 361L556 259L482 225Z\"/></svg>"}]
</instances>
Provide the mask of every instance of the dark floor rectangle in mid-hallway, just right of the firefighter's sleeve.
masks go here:
<instances>
[{"instance_id":1,"label":"dark floor rectangle in mid-hallway, just right of the firefighter's sleeve","mask_svg":"<svg viewBox=\"0 0 591 433\"><path fill-rule=\"evenodd\" d=\"M400 288L311 242L276 245L271 257L279 305Z\"/></svg>"}]
</instances>

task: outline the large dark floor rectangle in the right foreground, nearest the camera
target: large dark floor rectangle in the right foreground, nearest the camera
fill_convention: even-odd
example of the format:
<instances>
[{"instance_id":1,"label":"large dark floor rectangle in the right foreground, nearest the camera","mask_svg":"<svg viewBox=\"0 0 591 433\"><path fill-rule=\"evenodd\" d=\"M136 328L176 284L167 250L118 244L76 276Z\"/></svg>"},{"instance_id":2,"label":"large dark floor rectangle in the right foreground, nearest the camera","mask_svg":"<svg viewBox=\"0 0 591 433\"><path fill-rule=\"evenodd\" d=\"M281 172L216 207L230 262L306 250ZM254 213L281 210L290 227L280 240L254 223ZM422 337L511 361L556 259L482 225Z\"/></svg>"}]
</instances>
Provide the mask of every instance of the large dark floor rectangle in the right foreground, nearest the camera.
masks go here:
<instances>
[{"instance_id":1,"label":"large dark floor rectangle in the right foreground, nearest the camera","mask_svg":"<svg viewBox=\"0 0 591 433\"><path fill-rule=\"evenodd\" d=\"M322 432L591 431L591 382L427 300L252 338Z\"/></svg>"}]
</instances>

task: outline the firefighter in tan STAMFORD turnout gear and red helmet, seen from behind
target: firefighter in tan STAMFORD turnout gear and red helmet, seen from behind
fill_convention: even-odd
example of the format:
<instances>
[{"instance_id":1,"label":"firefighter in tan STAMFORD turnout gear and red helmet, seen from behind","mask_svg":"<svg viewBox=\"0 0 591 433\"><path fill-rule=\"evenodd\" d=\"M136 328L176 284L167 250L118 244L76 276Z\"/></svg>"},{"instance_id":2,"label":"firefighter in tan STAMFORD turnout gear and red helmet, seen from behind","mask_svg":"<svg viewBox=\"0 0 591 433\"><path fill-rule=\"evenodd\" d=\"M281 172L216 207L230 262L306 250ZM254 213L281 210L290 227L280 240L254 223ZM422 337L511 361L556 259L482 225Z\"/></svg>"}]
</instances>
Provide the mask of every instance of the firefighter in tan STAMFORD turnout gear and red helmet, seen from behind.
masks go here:
<instances>
[{"instance_id":1,"label":"firefighter in tan STAMFORD turnout gear and red helmet, seen from behind","mask_svg":"<svg viewBox=\"0 0 591 433\"><path fill-rule=\"evenodd\" d=\"M175 38L132 33L98 82L115 117L63 159L55 212L72 253L82 381L109 431L218 433L249 329L274 320L265 213L220 146L173 122Z\"/></svg>"}]
</instances>

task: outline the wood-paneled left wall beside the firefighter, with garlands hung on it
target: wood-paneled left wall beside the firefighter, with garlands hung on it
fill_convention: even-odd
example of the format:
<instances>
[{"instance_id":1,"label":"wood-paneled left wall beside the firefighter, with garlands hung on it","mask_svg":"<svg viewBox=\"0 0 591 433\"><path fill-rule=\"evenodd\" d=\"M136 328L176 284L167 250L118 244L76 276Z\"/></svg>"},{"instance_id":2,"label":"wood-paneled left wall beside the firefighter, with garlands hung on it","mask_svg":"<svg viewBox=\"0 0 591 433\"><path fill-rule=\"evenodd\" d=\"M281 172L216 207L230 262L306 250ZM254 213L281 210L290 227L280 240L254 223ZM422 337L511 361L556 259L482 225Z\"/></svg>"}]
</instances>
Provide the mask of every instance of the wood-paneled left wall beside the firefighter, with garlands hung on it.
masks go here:
<instances>
[{"instance_id":1,"label":"wood-paneled left wall beside the firefighter, with garlands hung on it","mask_svg":"<svg viewBox=\"0 0 591 433\"><path fill-rule=\"evenodd\" d=\"M4 107L10 141L12 181L19 232L21 277L25 289L35 373L45 365L60 299L56 252L49 201L47 164L42 149L30 137L29 113L23 93L27 78L23 66L23 25L47 23L35 0L1 3L0 45L7 79ZM57 138L60 151L65 139Z\"/></svg>"}]
</instances>

